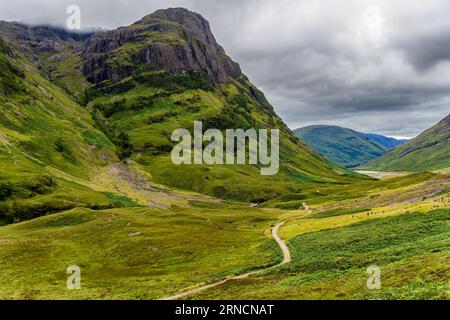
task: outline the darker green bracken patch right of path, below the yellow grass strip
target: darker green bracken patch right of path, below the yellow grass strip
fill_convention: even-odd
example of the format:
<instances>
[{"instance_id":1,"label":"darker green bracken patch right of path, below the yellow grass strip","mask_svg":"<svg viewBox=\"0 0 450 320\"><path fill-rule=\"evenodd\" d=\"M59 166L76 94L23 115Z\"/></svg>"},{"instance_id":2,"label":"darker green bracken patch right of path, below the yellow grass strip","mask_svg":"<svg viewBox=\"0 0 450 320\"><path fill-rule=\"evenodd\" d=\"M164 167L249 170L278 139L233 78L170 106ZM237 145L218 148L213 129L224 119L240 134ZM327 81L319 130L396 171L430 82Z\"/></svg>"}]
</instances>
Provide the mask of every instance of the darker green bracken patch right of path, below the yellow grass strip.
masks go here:
<instances>
[{"instance_id":1,"label":"darker green bracken patch right of path, below the yellow grass strip","mask_svg":"<svg viewBox=\"0 0 450 320\"><path fill-rule=\"evenodd\" d=\"M293 237L293 261L195 299L448 299L450 210L367 220ZM381 288L367 288L367 267Z\"/></svg>"}]
</instances>

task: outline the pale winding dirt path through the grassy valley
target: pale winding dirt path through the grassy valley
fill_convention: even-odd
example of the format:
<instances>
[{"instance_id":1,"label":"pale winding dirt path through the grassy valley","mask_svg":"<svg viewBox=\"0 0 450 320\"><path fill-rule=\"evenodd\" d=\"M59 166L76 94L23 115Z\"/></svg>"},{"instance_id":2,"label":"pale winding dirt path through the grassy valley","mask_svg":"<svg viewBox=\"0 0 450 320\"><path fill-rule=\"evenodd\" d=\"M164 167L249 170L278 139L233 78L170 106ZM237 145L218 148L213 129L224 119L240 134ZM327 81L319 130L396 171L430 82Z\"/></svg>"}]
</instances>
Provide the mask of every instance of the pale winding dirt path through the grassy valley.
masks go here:
<instances>
[{"instance_id":1,"label":"pale winding dirt path through the grassy valley","mask_svg":"<svg viewBox=\"0 0 450 320\"><path fill-rule=\"evenodd\" d=\"M268 268L264 268L264 269L260 269L260 270L256 270L256 271L247 272L247 273L244 273L244 274L241 274L241 275L238 275L238 276L232 276L232 277L226 278L226 279L224 279L222 281L214 282L214 283L202 286L202 287L198 287L196 289L188 290L188 291L185 291L183 293L180 293L180 294L177 294L177 295L174 295L174 296L171 296L171 297L167 297L167 298L164 298L164 299L161 299L161 300L178 300L178 299L181 299L181 298L184 298L184 297L191 296L193 294L199 293L201 291L220 286L220 285L222 285L224 283L227 283L230 280L238 280L238 279L248 278L250 276L253 276L253 275L256 275L256 274L260 274L260 273L263 273L265 271L272 270L274 268L282 266L283 264L291 262L291 252L289 251L289 248L286 245L286 243L278 235L278 230L287 221L288 220L280 222L279 224L277 224L275 227L272 228L272 237L277 242L278 246L280 247L281 251L283 252L283 261L281 261L279 264L274 265L272 267L268 267Z\"/></svg>"}]
</instances>

